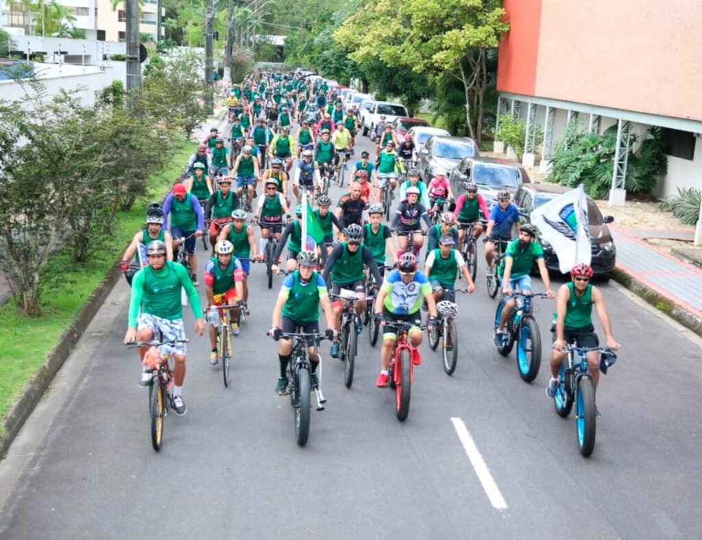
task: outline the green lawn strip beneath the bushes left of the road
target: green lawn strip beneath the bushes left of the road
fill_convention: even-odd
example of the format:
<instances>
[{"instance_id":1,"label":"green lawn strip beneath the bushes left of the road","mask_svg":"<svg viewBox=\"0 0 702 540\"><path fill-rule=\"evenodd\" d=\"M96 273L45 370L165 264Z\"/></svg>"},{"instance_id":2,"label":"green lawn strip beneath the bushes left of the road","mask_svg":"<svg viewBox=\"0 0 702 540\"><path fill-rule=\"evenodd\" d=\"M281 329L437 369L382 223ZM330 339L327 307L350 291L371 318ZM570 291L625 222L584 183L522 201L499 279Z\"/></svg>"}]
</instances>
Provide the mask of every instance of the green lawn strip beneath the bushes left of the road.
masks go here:
<instances>
[{"instance_id":1,"label":"green lawn strip beneath the bushes left of the road","mask_svg":"<svg viewBox=\"0 0 702 540\"><path fill-rule=\"evenodd\" d=\"M0 419L4 419L110 266L119 260L126 243L144 222L146 205L161 199L182 172L195 147L194 143L183 142L173 152L171 166L149 178L147 196L137 201L133 210L119 213L112 241L90 264L78 267L67 255L57 255L48 262L47 269L54 274L58 271L61 279L59 285L48 285L42 295L41 317L18 315L12 301L0 307L0 328L3 329L0 332ZM0 436L3 434L4 423L0 423Z\"/></svg>"}]
</instances>

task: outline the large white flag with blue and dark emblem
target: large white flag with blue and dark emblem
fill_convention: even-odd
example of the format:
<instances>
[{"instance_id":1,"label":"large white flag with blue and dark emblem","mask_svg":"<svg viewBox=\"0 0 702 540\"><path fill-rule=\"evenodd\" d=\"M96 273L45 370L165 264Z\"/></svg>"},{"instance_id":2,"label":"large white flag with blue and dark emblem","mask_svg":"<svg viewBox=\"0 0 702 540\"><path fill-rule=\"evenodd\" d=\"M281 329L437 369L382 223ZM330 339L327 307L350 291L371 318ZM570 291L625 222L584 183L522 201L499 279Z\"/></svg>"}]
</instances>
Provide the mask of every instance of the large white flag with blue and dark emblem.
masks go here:
<instances>
[{"instance_id":1,"label":"large white flag with blue and dark emblem","mask_svg":"<svg viewBox=\"0 0 702 540\"><path fill-rule=\"evenodd\" d=\"M541 239L552 245L563 274L578 262L590 264L588 198L582 184L536 208L531 223L538 227Z\"/></svg>"}]
</instances>

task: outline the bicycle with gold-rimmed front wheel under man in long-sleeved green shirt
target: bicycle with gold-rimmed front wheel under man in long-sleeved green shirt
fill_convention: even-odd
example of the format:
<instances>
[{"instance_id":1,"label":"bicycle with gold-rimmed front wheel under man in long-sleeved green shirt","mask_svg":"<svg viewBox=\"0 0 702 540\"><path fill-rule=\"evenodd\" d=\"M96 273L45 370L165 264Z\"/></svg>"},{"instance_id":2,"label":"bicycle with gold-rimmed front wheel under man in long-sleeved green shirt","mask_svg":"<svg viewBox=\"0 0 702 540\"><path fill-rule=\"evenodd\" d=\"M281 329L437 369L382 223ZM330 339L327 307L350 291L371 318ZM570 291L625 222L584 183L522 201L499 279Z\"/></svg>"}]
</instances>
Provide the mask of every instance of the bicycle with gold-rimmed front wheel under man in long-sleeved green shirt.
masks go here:
<instances>
[{"instance_id":1,"label":"bicycle with gold-rimmed front wheel under man in long-sleeved green shirt","mask_svg":"<svg viewBox=\"0 0 702 540\"><path fill-rule=\"evenodd\" d=\"M173 401L173 346L177 343L187 343L187 339L171 339L161 342L132 342L129 349L148 346L150 349L144 355L143 365L152 368L151 384L149 385L149 413L151 418L151 444L157 452L161 450L164 440L164 419L168 415L168 408L176 409ZM168 348L168 352L162 348Z\"/></svg>"}]
</instances>

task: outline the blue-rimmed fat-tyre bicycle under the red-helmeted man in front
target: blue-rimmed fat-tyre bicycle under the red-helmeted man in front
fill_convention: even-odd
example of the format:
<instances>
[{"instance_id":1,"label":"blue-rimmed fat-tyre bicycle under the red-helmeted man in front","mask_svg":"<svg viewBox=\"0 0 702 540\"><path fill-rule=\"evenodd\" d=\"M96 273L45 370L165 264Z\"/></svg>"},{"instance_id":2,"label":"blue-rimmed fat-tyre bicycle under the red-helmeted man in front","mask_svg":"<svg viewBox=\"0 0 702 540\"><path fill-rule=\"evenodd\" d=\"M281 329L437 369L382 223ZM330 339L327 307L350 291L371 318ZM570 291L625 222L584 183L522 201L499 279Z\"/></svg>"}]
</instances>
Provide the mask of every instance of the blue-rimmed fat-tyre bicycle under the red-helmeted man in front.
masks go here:
<instances>
[{"instance_id":1,"label":"blue-rimmed fat-tyre bicycle under the red-helmeted man in front","mask_svg":"<svg viewBox=\"0 0 702 540\"><path fill-rule=\"evenodd\" d=\"M616 354L607 347L578 347L575 343L564 347L566 360L558 374L558 387L553 398L553 406L559 417L565 418L575 404L576 434L578 449L584 457L595 450L595 430L597 423L597 406L595 405L595 383L588 373L587 353L600 352L600 365L612 365ZM577 358L576 358L577 357Z\"/></svg>"}]
</instances>

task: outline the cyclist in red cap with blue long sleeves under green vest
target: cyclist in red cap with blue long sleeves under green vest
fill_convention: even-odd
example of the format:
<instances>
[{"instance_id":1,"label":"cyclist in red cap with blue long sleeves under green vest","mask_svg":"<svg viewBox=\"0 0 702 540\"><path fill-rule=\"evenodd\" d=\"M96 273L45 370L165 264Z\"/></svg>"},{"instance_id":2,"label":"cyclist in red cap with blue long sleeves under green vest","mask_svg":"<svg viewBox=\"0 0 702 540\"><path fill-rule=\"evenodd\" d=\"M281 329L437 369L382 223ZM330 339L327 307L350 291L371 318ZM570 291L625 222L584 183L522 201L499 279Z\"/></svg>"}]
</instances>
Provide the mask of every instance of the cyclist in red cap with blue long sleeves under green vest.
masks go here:
<instances>
[{"instance_id":1,"label":"cyclist in red cap with blue long sleeves under green vest","mask_svg":"<svg viewBox=\"0 0 702 540\"><path fill-rule=\"evenodd\" d=\"M185 238L188 264L190 265L190 278L193 285L197 286L197 257L195 256L195 241L197 236L202 236L205 229L205 219L197 197L188 194L184 184L176 184L164 202L164 227L171 214L171 226L168 232L173 236L173 252L180 245L180 238ZM174 255L175 257L175 255Z\"/></svg>"}]
</instances>

